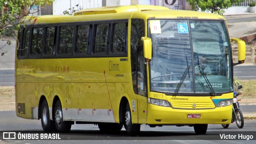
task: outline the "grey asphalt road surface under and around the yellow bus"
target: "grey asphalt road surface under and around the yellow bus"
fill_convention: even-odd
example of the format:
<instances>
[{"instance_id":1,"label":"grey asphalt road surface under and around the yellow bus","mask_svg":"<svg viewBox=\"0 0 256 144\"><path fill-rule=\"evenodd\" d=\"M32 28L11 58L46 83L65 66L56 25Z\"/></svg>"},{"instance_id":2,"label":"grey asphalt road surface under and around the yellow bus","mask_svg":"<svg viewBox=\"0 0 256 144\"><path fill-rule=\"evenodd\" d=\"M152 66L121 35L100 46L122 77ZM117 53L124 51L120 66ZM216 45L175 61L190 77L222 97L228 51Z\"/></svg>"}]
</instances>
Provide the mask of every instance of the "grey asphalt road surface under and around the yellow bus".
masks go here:
<instances>
[{"instance_id":1,"label":"grey asphalt road surface under and around the yellow bus","mask_svg":"<svg viewBox=\"0 0 256 144\"><path fill-rule=\"evenodd\" d=\"M21 132L21 133L44 133L42 132L41 122L40 120L26 120L23 118L18 118L15 114L15 111L0 111L0 134L1 132ZM62 144L70 144L69 140L78 140L78 143L87 143L87 141L82 140L104 140L97 143L112 143L112 144L127 144L126 140L132 140L131 142L136 143L137 140L143 140L142 143L145 143L145 140L148 144L162 144L164 142L158 142L159 140L174 140L174 143L182 142L183 140L203 140L204 143L208 143L211 140L219 140L220 134L253 134L254 140L256 140L256 133L254 132L256 129L256 121L255 120L245 120L244 128L239 129L235 123L230 124L229 128L224 129L220 124L209 124L208 131L206 135L196 135L194 133L194 128L189 126L163 126L150 128L149 126L143 124L141 125L141 132L138 136L130 137L127 136L125 129L123 128L120 132L112 132L112 133L102 133L98 129L98 126L94 126L93 124L74 124L72 125L71 131L66 134L60 134L60 138L62 140L68 141L52 141L50 143L62 143ZM254 133L252 133L254 132ZM1 139L1 135L0 135ZM115 142L110 140L121 140ZM157 140L157 141L156 141ZM8 141L11 143L31 143L29 140L22 141ZM33 141L38 142L38 141ZM40 141L45 142L45 141ZM130 142L130 141L129 141ZM190 141L188 141L190 143ZM188 143L185 142L185 143ZM239 143L244 143L239 141ZM246 141L246 143L249 141ZM255 142L255 141L254 141ZM169 141L170 143L170 141ZM184 142L182 142L184 143ZM193 143L193 142L192 142ZM201 141L199 142L201 143ZM250 143L250 142L249 142ZM138 144L141 144L138 143Z\"/></svg>"}]
</instances>

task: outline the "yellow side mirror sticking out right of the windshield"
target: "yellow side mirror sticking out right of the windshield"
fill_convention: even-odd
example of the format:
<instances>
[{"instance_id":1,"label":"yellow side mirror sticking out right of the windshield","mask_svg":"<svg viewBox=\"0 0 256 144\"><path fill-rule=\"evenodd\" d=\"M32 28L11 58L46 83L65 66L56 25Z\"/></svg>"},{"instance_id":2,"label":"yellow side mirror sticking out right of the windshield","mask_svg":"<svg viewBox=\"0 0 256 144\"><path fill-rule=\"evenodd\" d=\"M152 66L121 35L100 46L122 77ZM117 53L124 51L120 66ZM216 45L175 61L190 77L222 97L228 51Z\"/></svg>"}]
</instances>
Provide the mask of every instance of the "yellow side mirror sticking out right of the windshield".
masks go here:
<instances>
[{"instance_id":1,"label":"yellow side mirror sticking out right of the windshield","mask_svg":"<svg viewBox=\"0 0 256 144\"><path fill-rule=\"evenodd\" d=\"M234 66L238 64L243 64L245 60L245 42L238 38L231 38L231 42L232 41L238 44L238 63L234 63Z\"/></svg>"}]
</instances>

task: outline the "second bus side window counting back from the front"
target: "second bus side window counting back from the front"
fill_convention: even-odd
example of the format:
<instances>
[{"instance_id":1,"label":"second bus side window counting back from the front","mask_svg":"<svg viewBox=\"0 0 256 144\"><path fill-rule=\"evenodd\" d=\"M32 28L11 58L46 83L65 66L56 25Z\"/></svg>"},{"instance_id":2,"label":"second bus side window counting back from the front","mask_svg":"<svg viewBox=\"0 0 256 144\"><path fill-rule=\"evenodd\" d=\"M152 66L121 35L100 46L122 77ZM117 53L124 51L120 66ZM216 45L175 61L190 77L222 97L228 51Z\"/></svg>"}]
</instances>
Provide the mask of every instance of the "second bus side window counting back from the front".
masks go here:
<instances>
[{"instance_id":1,"label":"second bus side window counting back from the front","mask_svg":"<svg viewBox=\"0 0 256 144\"><path fill-rule=\"evenodd\" d=\"M94 53L106 53L108 46L108 30L109 24L96 25L96 33L94 37Z\"/></svg>"}]
</instances>

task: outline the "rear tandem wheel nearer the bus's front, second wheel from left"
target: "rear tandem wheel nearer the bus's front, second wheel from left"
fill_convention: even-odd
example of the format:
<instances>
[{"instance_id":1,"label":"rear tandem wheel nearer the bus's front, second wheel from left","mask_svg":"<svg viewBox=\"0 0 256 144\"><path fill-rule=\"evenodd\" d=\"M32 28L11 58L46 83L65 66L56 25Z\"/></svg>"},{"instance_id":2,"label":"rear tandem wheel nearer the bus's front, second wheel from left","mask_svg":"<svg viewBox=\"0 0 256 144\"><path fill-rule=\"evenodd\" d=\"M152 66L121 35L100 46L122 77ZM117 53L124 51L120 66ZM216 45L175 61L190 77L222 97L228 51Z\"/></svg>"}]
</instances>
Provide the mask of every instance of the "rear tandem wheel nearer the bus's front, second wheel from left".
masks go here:
<instances>
[{"instance_id":1,"label":"rear tandem wheel nearer the bus's front, second wheel from left","mask_svg":"<svg viewBox=\"0 0 256 144\"><path fill-rule=\"evenodd\" d=\"M63 113L60 100L58 100L55 104L54 122L58 132L70 132L72 122L63 121Z\"/></svg>"}]
</instances>

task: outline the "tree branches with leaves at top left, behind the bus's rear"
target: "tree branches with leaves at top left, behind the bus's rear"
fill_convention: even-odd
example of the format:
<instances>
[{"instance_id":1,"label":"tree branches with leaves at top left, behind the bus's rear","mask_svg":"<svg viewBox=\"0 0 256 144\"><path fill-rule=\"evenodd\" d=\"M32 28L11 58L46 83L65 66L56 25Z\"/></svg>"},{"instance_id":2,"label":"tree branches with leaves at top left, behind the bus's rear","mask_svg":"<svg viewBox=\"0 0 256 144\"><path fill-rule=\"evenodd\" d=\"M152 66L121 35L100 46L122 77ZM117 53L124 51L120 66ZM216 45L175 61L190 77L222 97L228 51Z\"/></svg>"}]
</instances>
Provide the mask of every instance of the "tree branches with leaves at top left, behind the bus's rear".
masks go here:
<instances>
[{"instance_id":1,"label":"tree branches with leaves at top left, behind the bus's rear","mask_svg":"<svg viewBox=\"0 0 256 144\"><path fill-rule=\"evenodd\" d=\"M11 44L8 36L16 37L16 32L20 30L20 25L24 24L24 18L29 14L38 12L30 12L33 6L38 5L43 9L46 4L50 5L53 1L54 0L0 0L0 38L6 41L4 46ZM1 50L4 46L0 46L2 56L5 53Z\"/></svg>"}]
</instances>

